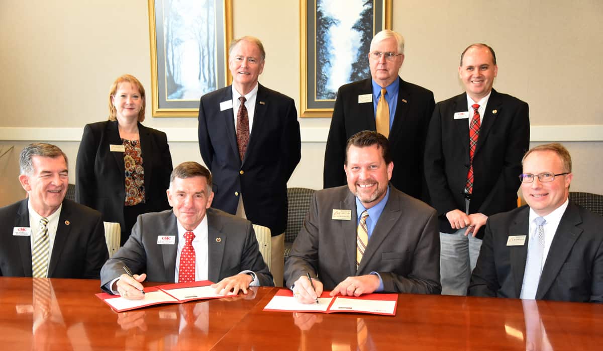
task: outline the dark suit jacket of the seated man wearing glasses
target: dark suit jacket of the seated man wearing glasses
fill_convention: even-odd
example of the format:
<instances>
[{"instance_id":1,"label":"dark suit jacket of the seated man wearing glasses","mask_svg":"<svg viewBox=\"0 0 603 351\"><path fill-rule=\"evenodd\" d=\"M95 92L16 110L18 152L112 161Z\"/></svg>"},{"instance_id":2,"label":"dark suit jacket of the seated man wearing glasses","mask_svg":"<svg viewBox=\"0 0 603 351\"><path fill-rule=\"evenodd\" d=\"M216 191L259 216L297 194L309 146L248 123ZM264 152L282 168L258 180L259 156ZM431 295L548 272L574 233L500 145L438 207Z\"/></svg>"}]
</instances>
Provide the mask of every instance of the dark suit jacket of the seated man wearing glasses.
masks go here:
<instances>
[{"instance_id":1,"label":"dark suit jacket of the seated man wearing glasses","mask_svg":"<svg viewBox=\"0 0 603 351\"><path fill-rule=\"evenodd\" d=\"M507 246L513 235L528 235L529 207L488 218L469 295L519 299L528 238ZM529 237L529 235L528 235ZM546 256L537 300L603 302L603 217L569 203Z\"/></svg>"}]
</instances>

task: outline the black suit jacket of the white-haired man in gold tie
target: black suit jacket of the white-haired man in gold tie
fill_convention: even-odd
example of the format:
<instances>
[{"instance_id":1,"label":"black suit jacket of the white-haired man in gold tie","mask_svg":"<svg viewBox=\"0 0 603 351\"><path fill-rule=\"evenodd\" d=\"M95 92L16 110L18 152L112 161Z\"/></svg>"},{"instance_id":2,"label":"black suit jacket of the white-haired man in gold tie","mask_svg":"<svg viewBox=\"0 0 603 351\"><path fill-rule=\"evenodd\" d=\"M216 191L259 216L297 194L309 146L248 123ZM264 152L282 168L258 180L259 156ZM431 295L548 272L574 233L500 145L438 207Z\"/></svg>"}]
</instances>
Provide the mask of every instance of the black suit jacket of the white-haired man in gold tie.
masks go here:
<instances>
[{"instance_id":1,"label":"black suit jacket of the white-haired man in gold tie","mask_svg":"<svg viewBox=\"0 0 603 351\"><path fill-rule=\"evenodd\" d=\"M434 93L398 79L400 89L389 138L394 161L391 183L412 197L426 200L423 151L429 119L434 112ZM373 101L358 103L358 95L364 94L373 94L370 78L339 87L324 151L324 188L347 184L343 169L347 139L362 130L377 130Z\"/></svg>"}]
</instances>

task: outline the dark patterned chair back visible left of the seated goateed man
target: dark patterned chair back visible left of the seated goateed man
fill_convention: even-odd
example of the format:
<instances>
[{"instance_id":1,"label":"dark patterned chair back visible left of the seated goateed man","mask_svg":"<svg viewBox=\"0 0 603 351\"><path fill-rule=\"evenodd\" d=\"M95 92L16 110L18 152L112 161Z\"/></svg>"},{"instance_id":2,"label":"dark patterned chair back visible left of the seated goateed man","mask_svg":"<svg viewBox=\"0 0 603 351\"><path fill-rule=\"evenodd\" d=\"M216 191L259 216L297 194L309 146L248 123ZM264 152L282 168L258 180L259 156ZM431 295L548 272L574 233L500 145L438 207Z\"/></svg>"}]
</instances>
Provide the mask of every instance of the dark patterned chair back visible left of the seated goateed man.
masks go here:
<instances>
[{"instance_id":1,"label":"dark patterned chair back visible left of the seated goateed man","mask_svg":"<svg viewBox=\"0 0 603 351\"><path fill-rule=\"evenodd\" d=\"M289 209L287 211L287 228L285 229L285 261L289 258L291 246L306 219L314 192L314 189L308 188L287 188Z\"/></svg>"}]
</instances>

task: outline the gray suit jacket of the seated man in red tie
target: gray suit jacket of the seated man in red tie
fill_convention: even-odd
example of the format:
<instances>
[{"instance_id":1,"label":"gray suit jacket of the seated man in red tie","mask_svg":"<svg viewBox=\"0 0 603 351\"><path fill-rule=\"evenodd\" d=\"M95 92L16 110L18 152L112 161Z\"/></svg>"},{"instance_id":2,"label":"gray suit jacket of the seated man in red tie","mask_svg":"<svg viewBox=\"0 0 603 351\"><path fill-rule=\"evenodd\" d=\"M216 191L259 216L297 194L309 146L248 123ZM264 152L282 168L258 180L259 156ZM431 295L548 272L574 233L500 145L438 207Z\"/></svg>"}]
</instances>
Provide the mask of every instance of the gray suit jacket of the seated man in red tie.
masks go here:
<instances>
[{"instance_id":1,"label":"gray suit jacket of the seated man in red tie","mask_svg":"<svg viewBox=\"0 0 603 351\"><path fill-rule=\"evenodd\" d=\"M260 285L273 286L273 277L262 259L250 221L216 209L207 209L207 277L219 282L243 270L254 271ZM175 235L173 245L158 245L157 236ZM218 239L219 240L216 240ZM134 274L147 273L150 282L174 282L178 250L177 218L172 210L140 215L125 245L101 270L101 288L124 273L127 265Z\"/></svg>"}]
</instances>

